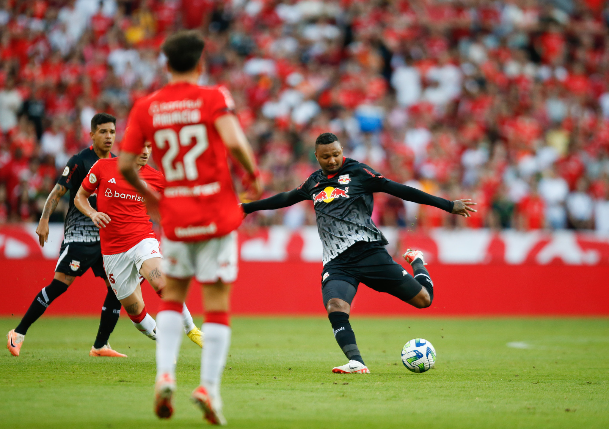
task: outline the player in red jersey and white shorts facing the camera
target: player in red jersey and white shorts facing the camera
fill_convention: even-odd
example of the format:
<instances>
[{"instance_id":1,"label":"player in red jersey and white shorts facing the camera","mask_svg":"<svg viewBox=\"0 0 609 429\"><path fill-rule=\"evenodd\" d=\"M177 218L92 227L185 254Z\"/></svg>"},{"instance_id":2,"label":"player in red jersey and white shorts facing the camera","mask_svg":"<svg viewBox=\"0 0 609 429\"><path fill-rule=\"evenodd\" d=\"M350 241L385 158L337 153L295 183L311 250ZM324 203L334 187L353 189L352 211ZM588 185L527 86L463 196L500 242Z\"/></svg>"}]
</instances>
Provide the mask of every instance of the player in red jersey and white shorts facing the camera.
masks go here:
<instances>
[{"instance_id":1,"label":"player in red jersey and white shorts facing the camera","mask_svg":"<svg viewBox=\"0 0 609 429\"><path fill-rule=\"evenodd\" d=\"M146 145L137 158L141 183L162 190L163 175L147 166L150 145ZM99 159L85 176L74 198L74 204L99 228L104 258L104 269L116 298L121 301L133 325L153 340L157 325L146 311L140 279L144 277L161 295L164 281L160 265L163 256L146 213L144 198L121 176L117 169L118 158ZM97 210L89 197L97 192ZM192 322L192 316L182 305L183 326L186 335L203 347L201 332Z\"/></svg>"}]
</instances>

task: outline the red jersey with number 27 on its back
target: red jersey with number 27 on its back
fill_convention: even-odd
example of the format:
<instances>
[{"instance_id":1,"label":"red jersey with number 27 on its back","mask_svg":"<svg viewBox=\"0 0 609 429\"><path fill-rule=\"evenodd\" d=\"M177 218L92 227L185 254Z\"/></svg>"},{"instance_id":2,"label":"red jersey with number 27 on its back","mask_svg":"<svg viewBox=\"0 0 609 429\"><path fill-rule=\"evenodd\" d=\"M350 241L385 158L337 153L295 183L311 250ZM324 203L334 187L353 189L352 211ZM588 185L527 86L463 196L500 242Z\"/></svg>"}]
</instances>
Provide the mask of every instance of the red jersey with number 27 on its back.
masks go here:
<instances>
[{"instance_id":1,"label":"red jersey with number 27 on its back","mask_svg":"<svg viewBox=\"0 0 609 429\"><path fill-rule=\"evenodd\" d=\"M135 102L121 148L138 154L152 142L165 176L160 215L170 240L194 242L226 235L243 212L233 189L227 149L214 121L233 111L224 86L174 83Z\"/></svg>"}]
</instances>

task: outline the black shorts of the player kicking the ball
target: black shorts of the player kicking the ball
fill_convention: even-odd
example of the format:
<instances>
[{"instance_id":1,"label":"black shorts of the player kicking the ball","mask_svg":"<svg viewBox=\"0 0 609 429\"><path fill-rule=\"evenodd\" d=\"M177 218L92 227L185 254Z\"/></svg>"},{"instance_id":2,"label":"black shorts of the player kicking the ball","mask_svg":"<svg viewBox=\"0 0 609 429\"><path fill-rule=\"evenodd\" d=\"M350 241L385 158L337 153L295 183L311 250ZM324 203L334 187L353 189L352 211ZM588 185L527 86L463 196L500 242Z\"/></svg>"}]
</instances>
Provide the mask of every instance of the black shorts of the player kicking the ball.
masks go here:
<instances>
[{"instance_id":1,"label":"black shorts of the player kicking the ball","mask_svg":"<svg viewBox=\"0 0 609 429\"><path fill-rule=\"evenodd\" d=\"M423 288L381 243L357 242L323 267L323 305L331 298L351 304L360 283L402 301L414 298Z\"/></svg>"}]
</instances>

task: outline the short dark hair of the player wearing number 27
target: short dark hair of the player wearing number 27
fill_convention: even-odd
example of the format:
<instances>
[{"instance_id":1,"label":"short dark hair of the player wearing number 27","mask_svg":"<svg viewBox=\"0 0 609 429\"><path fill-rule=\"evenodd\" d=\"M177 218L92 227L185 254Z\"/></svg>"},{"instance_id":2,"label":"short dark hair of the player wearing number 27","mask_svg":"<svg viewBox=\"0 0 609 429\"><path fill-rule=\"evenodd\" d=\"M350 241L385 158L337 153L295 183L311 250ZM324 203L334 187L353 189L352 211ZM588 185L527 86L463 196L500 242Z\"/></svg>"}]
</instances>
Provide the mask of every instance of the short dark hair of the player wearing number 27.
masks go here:
<instances>
[{"instance_id":1,"label":"short dark hair of the player wearing number 27","mask_svg":"<svg viewBox=\"0 0 609 429\"><path fill-rule=\"evenodd\" d=\"M163 42L167 64L178 73L189 72L197 66L205 43L195 30L180 30Z\"/></svg>"}]
</instances>

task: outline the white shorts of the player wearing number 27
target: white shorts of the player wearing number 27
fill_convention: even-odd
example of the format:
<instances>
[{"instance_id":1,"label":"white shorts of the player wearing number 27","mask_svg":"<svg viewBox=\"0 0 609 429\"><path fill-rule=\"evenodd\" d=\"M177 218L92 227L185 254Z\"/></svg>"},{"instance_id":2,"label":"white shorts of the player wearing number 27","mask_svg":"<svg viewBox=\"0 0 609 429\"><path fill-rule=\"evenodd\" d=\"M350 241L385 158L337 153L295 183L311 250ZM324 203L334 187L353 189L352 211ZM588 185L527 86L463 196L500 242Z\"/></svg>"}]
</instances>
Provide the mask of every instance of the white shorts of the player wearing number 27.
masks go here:
<instances>
[{"instance_id":1,"label":"white shorts of the player wearing number 27","mask_svg":"<svg viewBox=\"0 0 609 429\"><path fill-rule=\"evenodd\" d=\"M163 237L161 270L169 277L195 277L201 283L237 279L237 232L200 242L174 242Z\"/></svg>"}]
</instances>

